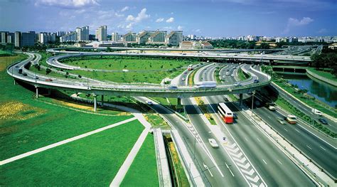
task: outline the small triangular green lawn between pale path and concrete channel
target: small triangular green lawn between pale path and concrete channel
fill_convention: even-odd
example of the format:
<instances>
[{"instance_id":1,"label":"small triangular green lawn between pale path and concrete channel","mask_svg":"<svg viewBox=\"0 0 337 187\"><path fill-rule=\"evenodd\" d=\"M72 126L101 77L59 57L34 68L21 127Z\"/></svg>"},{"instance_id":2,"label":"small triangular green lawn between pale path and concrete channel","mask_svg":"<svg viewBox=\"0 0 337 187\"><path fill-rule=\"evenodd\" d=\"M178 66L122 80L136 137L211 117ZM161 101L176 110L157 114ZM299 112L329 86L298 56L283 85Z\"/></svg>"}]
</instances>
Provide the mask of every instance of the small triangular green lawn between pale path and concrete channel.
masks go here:
<instances>
[{"instance_id":1,"label":"small triangular green lawn between pale path and concrete channel","mask_svg":"<svg viewBox=\"0 0 337 187\"><path fill-rule=\"evenodd\" d=\"M159 186L154 135L148 134L121 186Z\"/></svg>"}]
</instances>

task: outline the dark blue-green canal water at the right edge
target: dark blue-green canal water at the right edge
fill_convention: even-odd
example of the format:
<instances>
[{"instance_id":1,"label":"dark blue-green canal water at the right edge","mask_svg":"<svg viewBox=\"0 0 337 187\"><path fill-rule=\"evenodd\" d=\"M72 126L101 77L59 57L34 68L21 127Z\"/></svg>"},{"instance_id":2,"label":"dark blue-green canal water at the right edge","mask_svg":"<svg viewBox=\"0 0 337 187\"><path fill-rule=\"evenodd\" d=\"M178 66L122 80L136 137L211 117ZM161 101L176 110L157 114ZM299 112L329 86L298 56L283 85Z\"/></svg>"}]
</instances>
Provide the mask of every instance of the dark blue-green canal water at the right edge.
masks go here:
<instances>
[{"instance_id":1,"label":"dark blue-green canal water at the right edge","mask_svg":"<svg viewBox=\"0 0 337 187\"><path fill-rule=\"evenodd\" d=\"M320 80L311 79L306 75L282 74L292 85L297 85L301 90L308 90L308 94L317 100L325 102L331 107L337 107L337 87L326 84Z\"/></svg>"}]
</instances>

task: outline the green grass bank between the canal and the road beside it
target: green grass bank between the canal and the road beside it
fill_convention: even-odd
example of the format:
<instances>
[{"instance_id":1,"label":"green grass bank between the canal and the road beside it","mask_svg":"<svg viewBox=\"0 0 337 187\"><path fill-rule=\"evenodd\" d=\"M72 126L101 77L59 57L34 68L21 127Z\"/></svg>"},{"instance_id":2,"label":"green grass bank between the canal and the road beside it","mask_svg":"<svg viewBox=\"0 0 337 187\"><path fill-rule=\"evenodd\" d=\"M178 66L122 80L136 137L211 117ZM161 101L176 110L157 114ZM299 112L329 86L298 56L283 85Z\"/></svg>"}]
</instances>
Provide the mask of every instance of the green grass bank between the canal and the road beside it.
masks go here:
<instances>
[{"instance_id":1,"label":"green grass bank between the canal and the road beside it","mask_svg":"<svg viewBox=\"0 0 337 187\"><path fill-rule=\"evenodd\" d=\"M262 71L268 73L269 75L272 75L272 81L275 84L277 84L279 87L282 87L282 89L286 90L291 95L294 95L294 97L301 100L301 102L304 102L306 103L306 105L309 105L310 107L313 107L315 109L319 109L319 111L331 115L332 117L337 117L337 109L327 105L324 102L316 100L316 98L311 97L304 92L301 92L301 90L299 90L297 87L290 85L287 80L280 78L279 75L277 75L277 73L274 73L274 71L272 71L272 68L270 68L269 66L262 66Z\"/></svg>"}]
</instances>

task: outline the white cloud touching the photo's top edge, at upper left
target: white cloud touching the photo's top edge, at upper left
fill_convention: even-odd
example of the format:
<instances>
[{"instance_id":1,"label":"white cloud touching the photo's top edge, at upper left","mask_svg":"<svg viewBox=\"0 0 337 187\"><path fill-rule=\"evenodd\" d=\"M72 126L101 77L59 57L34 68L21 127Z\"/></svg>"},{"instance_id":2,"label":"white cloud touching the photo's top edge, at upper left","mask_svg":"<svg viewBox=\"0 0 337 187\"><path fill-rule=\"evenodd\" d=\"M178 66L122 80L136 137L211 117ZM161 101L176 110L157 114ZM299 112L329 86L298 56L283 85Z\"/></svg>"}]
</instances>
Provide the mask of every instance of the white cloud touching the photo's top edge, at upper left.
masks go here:
<instances>
[{"instance_id":1,"label":"white cloud touching the photo's top edge, at upper left","mask_svg":"<svg viewBox=\"0 0 337 187\"><path fill-rule=\"evenodd\" d=\"M68 9L80 9L84 6L98 5L97 0L36 0L35 6L58 6Z\"/></svg>"}]
</instances>

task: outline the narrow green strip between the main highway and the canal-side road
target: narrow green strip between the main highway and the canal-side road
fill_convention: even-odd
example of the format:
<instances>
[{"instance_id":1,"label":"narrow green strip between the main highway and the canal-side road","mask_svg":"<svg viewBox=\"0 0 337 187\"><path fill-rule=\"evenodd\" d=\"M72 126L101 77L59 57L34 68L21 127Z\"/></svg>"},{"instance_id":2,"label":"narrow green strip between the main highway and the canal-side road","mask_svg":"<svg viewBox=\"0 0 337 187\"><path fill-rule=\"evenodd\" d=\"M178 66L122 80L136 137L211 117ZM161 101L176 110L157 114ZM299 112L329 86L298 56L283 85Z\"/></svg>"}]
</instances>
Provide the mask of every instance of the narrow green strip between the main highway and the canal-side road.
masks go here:
<instances>
[{"instance_id":1,"label":"narrow green strip between the main highway and the canal-side road","mask_svg":"<svg viewBox=\"0 0 337 187\"><path fill-rule=\"evenodd\" d=\"M297 109L296 107L291 105L289 102L287 102L287 100L284 100L282 97L279 97L277 99L276 103L277 103L277 105L279 105L279 107L282 107L283 109L287 110L291 114L295 114L297 117L303 119L305 122L307 122L311 126L315 127L316 129L319 129L321 132L324 132L325 134L328 134L329 136L331 136L333 138L337 137L336 133L331 132L330 129L323 126L322 124L320 124L316 121L314 121L314 123L313 123L311 117L309 117L308 115L301 112L299 109Z\"/></svg>"}]
</instances>

